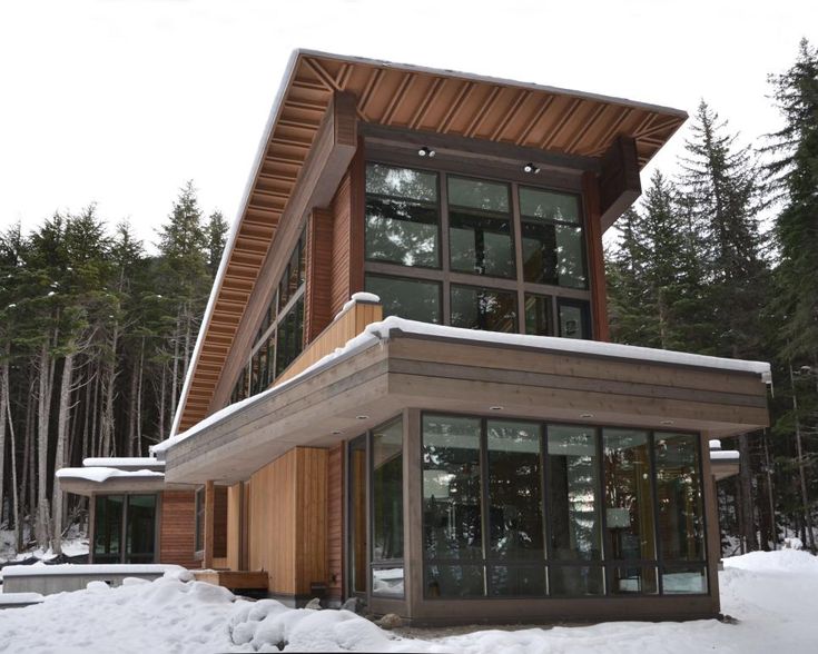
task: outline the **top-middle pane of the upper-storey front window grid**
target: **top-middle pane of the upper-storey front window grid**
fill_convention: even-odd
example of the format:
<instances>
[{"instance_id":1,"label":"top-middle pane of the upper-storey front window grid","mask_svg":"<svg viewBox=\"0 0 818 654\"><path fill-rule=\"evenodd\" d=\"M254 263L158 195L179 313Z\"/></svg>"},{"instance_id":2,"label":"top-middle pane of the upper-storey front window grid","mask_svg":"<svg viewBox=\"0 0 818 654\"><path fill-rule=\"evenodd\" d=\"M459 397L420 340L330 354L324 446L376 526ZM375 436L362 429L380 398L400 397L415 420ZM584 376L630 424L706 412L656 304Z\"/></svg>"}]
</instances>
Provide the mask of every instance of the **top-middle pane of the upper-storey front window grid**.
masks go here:
<instances>
[{"instance_id":1,"label":"top-middle pane of the upper-storey front window grid","mask_svg":"<svg viewBox=\"0 0 818 654\"><path fill-rule=\"evenodd\" d=\"M515 277L509 185L449 177L450 266L459 272Z\"/></svg>"}]
</instances>

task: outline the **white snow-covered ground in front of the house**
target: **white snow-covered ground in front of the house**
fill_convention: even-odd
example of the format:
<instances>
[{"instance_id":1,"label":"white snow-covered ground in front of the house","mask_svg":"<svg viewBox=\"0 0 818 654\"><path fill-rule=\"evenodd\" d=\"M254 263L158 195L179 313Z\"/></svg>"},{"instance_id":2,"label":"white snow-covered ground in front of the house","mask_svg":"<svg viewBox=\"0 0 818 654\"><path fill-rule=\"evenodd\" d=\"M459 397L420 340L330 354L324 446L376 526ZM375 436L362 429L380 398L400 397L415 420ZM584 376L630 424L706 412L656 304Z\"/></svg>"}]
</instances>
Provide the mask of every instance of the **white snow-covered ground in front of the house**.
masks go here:
<instances>
[{"instance_id":1,"label":"white snow-covered ground in front of the house","mask_svg":"<svg viewBox=\"0 0 818 654\"><path fill-rule=\"evenodd\" d=\"M289 610L245 602L228 591L168 573L120 588L51 595L0 611L0 652L692 652L818 651L818 558L795 549L727 559L722 610L738 624L603 623L584 627L487 630L413 637L385 632L345 611ZM453 631L454 632L454 631Z\"/></svg>"}]
</instances>

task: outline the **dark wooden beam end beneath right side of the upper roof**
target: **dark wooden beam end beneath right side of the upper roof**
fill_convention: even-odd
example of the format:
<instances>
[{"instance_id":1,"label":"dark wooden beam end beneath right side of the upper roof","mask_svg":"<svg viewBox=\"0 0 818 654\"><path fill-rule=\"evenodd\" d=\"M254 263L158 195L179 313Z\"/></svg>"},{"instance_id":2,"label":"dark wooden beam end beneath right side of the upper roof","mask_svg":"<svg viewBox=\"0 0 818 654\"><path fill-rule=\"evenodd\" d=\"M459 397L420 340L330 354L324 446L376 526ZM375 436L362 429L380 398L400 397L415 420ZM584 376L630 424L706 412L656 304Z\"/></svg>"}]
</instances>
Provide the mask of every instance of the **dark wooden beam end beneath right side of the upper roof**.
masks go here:
<instances>
[{"instance_id":1,"label":"dark wooden beam end beneath right side of the upper roof","mask_svg":"<svg viewBox=\"0 0 818 654\"><path fill-rule=\"evenodd\" d=\"M599 176L600 225L604 232L642 192L637 141L620 136L602 156Z\"/></svg>"}]
</instances>

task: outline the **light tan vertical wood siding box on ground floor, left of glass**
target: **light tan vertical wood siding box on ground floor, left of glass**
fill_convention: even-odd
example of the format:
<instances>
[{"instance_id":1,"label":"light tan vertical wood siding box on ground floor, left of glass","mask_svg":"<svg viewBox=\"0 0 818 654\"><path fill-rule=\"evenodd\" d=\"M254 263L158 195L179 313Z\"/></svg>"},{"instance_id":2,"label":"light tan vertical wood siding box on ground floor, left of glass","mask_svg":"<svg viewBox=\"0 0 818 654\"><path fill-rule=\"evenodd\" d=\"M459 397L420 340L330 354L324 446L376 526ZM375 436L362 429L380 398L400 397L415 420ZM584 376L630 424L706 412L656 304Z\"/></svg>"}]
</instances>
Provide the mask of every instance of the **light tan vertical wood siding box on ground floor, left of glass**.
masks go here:
<instances>
[{"instance_id":1,"label":"light tan vertical wood siding box on ground floor, left of glass","mask_svg":"<svg viewBox=\"0 0 818 654\"><path fill-rule=\"evenodd\" d=\"M305 596L326 583L327 450L297 447L250 478L249 567L273 594Z\"/></svg>"}]
</instances>

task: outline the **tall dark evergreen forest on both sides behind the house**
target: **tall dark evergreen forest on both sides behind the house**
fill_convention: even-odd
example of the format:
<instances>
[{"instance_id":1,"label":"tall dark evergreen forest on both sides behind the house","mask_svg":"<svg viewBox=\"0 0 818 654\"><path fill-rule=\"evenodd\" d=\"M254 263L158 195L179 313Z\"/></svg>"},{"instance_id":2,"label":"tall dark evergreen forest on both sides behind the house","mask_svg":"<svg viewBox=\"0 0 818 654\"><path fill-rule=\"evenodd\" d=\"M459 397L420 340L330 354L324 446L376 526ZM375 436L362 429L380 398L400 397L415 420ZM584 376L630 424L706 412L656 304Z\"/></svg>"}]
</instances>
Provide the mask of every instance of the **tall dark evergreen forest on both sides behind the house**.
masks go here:
<instances>
[{"instance_id":1,"label":"tall dark evergreen forest on both sides behind the house","mask_svg":"<svg viewBox=\"0 0 818 654\"><path fill-rule=\"evenodd\" d=\"M726 440L725 554L818 521L818 50L769 78L781 128L742 143L704 101L686 153L653 174L607 238L612 339L770 361L771 426ZM677 137L679 138L679 137ZM55 469L145 456L168 436L227 222L193 182L169 201L156 251L93 205L0 234L0 529L60 553L82 498Z\"/></svg>"}]
</instances>

